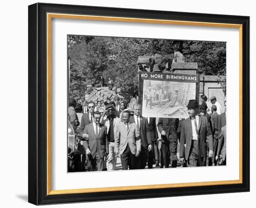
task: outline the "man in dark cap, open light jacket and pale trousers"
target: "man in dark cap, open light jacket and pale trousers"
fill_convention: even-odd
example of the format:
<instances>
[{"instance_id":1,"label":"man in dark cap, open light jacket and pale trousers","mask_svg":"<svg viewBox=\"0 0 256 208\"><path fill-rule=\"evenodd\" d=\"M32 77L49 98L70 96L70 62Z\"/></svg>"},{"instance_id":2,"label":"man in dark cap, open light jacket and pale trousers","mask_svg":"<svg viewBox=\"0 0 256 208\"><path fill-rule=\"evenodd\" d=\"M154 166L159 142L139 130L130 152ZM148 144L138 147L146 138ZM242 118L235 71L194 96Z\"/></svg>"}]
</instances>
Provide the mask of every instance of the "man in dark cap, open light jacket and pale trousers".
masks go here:
<instances>
[{"instance_id":1,"label":"man in dark cap, open light jacket and pale trousers","mask_svg":"<svg viewBox=\"0 0 256 208\"><path fill-rule=\"evenodd\" d=\"M107 169L115 170L116 165L116 155L115 155L115 132L117 131L117 125L120 123L120 118L115 116L115 109L113 105L107 105L106 110L107 118L103 120L103 124L107 127L107 137L108 137L108 160Z\"/></svg>"}]
</instances>

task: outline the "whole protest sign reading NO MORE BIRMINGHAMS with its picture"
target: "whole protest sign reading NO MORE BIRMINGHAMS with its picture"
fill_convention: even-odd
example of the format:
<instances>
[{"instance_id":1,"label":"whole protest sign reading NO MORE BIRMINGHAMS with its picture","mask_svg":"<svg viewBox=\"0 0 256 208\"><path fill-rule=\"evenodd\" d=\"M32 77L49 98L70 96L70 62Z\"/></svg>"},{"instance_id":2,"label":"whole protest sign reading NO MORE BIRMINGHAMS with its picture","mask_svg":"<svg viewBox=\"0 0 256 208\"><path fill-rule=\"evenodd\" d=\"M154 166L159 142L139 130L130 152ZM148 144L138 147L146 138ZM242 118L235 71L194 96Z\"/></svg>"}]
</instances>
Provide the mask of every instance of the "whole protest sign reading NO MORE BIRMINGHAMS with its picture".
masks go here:
<instances>
[{"instance_id":1,"label":"whole protest sign reading NO MORE BIRMINGHAMS with its picture","mask_svg":"<svg viewBox=\"0 0 256 208\"><path fill-rule=\"evenodd\" d=\"M187 118L187 104L195 99L197 75L141 73L142 116Z\"/></svg>"}]
</instances>

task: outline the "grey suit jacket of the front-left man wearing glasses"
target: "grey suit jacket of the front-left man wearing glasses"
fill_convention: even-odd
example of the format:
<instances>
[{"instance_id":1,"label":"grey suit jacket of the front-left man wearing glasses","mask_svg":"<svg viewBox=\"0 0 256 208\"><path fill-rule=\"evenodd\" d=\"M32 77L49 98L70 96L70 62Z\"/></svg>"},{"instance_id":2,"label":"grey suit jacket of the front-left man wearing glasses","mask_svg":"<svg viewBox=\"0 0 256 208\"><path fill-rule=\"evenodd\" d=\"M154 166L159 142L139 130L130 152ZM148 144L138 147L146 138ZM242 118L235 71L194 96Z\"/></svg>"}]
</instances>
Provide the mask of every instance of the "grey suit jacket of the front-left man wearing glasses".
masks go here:
<instances>
[{"instance_id":1,"label":"grey suit jacket of the front-left man wearing glasses","mask_svg":"<svg viewBox=\"0 0 256 208\"><path fill-rule=\"evenodd\" d=\"M107 127L100 123L98 136L96 137L93 123L89 123L83 130L84 133L88 134L88 139L83 143L85 150L89 149L91 155L94 158L96 152L99 153L101 158L104 158L105 152L108 154L108 138L107 138Z\"/></svg>"}]
</instances>

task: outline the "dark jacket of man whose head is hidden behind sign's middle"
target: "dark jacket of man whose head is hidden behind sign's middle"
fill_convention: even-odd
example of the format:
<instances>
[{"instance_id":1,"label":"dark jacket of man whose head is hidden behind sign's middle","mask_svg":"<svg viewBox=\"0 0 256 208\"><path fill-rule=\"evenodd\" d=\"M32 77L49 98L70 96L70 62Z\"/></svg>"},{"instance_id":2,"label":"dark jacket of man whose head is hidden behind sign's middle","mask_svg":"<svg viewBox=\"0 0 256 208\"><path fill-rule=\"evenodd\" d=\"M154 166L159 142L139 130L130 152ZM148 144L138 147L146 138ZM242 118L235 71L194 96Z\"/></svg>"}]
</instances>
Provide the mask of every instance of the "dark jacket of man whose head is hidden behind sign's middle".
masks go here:
<instances>
[{"instance_id":1,"label":"dark jacket of man whose head is hidden behind sign's middle","mask_svg":"<svg viewBox=\"0 0 256 208\"><path fill-rule=\"evenodd\" d=\"M161 135L161 142L168 143L169 140L178 140L178 129L179 119L178 118L159 118L157 123L158 130L160 133L164 130L165 136Z\"/></svg>"}]
</instances>

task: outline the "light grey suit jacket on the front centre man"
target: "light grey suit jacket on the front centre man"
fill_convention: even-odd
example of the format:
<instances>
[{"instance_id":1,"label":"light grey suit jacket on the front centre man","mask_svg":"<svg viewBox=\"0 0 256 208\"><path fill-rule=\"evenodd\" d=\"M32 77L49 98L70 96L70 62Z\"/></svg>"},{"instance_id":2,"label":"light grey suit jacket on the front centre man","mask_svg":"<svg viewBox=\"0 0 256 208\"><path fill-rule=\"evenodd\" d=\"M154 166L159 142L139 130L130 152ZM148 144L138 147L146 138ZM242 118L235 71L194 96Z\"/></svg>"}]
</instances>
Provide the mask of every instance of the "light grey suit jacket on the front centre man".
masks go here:
<instances>
[{"instance_id":1,"label":"light grey suit jacket on the front centre man","mask_svg":"<svg viewBox=\"0 0 256 208\"><path fill-rule=\"evenodd\" d=\"M141 137L136 123L129 123L129 130L124 122L117 125L115 146L120 155L123 154L127 145L133 155L136 151L141 151Z\"/></svg>"}]
</instances>

